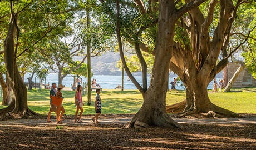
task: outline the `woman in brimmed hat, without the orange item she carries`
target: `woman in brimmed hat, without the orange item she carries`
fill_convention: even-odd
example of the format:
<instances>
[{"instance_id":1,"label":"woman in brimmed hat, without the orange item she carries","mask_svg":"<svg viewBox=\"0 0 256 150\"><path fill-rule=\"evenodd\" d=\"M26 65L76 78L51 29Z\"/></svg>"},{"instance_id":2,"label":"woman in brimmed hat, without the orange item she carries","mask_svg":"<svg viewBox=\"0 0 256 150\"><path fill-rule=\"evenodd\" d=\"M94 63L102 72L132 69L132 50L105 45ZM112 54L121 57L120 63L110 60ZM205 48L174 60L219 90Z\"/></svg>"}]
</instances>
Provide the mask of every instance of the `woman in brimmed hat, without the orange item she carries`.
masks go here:
<instances>
[{"instance_id":1,"label":"woman in brimmed hat, without the orange item she carries","mask_svg":"<svg viewBox=\"0 0 256 150\"><path fill-rule=\"evenodd\" d=\"M62 84L58 85L58 91L56 93L56 98L64 98L64 97L62 97L62 93L61 93L61 90L63 88L64 88L64 86ZM64 113L65 113L65 109L61 103L60 106L57 106L57 116L56 116L57 124L62 124L62 121L65 120L65 119L61 119L61 117L63 116Z\"/></svg>"}]
</instances>

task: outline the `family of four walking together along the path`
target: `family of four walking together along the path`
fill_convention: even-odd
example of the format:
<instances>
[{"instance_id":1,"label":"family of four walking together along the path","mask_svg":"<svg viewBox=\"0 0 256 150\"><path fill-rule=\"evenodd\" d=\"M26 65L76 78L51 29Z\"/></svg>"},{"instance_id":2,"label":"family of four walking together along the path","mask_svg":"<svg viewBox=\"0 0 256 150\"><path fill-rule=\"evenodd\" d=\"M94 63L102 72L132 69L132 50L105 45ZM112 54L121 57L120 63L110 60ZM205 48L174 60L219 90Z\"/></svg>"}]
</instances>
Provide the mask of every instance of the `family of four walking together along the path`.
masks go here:
<instances>
[{"instance_id":1,"label":"family of four walking together along the path","mask_svg":"<svg viewBox=\"0 0 256 150\"><path fill-rule=\"evenodd\" d=\"M56 90L57 88L57 90ZM62 84L58 85L56 83L52 83L52 88L50 91L50 110L48 112L47 122L51 121L51 113L55 112L56 114L56 122L57 124L62 124L65 119L62 119L63 114L65 113L65 109L62 105L62 100L64 97L62 96L61 90L64 88ZM81 117L83 113L83 101L82 101L82 86L78 85L75 93L75 104L76 104L76 113L75 113L75 121L74 122L82 122ZM78 112L79 116L78 116ZM96 115L92 117L92 121L98 123L98 117L101 114L101 98L100 98L100 89L96 89L96 97L95 97L95 112ZM78 117L78 119L77 119Z\"/></svg>"}]
</instances>

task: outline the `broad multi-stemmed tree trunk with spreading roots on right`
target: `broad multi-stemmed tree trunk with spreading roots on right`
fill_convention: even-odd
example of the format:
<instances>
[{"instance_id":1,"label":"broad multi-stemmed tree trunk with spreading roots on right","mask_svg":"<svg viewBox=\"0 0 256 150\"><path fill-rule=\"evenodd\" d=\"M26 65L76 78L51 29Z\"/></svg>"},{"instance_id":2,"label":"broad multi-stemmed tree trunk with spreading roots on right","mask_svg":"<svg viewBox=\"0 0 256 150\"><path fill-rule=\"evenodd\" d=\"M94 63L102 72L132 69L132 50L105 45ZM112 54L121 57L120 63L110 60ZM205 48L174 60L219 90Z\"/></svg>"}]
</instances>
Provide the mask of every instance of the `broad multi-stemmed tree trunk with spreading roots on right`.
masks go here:
<instances>
[{"instance_id":1,"label":"broad multi-stemmed tree trunk with spreading roots on right","mask_svg":"<svg viewBox=\"0 0 256 150\"><path fill-rule=\"evenodd\" d=\"M229 38L227 38L230 36L229 29L240 2L239 0L237 6L234 7L233 1L230 0L212 0L209 3L209 13L206 18L199 8L194 8L189 11L188 19L184 17L183 20L190 28L183 22L180 23L181 27L190 31L189 34L184 32L183 35L188 35L184 38L191 40L191 46L189 44L183 46L184 43L178 41L174 46L173 58L171 58L171 70L180 76L186 86L186 107L179 116L203 112L208 113L211 117L239 117L238 114L211 103L207 87L216 74L228 64L230 54L220 60L218 64L216 61L221 49L224 49L223 45L227 46L223 43L229 42ZM220 6L219 22L211 37L209 27L213 21L214 8L217 3ZM181 104L176 106L180 107Z\"/></svg>"}]
</instances>

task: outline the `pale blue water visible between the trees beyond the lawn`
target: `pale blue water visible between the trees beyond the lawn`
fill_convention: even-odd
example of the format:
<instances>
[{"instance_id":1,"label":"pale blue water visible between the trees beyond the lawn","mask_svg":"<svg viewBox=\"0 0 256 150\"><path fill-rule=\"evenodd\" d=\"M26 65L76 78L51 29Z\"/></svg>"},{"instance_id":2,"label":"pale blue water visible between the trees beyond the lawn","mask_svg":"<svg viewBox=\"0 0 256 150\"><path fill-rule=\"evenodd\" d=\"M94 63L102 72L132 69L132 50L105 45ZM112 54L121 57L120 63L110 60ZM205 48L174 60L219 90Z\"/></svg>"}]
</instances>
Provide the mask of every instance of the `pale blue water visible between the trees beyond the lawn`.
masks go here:
<instances>
[{"instance_id":1,"label":"pale blue water visible between the trees beyond the lawn","mask_svg":"<svg viewBox=\"0 0 256 150\"><path fill-rule=\"evenodd\" d=\"M25 75L25 81L28 82L29 74ZM94 75L92 79L96 79L96 82L100 84L100 86L104 89L114 89L116 88L117 84L121 85L122 84L122 76L107 76L107 75ZM137 89L134 84L131 81L127 81L128 76L124 76L124 89ZM135 76L137 81L142 85L142 77L141 76ZM86 82L87 78L82 77L82 82ZM35 82L35 77L33 78L33 81ZM147 82L149 84L149 77L147 77ZM173 81L173 77L169 77L169 83ZM217 79L217 81L219 81ZM37 83L39 82L39 79L37 78ZM58 75L55 73L50 73L46 77L46 84L51 84L52 82L56 82L58 84ZM43 81L43 84L45 82ZM71 75L66 76L63 79L62 84L65 85L66 87L71 87L71 84L73 83L73 77ZM180 86L181 82L177 82L179 86L176 86L176 89L183 90L184 87ZM169 84L169 88L171 88ZM208 89L213 88L213 81L209 84Z\"/></svg>"}]
</instances>

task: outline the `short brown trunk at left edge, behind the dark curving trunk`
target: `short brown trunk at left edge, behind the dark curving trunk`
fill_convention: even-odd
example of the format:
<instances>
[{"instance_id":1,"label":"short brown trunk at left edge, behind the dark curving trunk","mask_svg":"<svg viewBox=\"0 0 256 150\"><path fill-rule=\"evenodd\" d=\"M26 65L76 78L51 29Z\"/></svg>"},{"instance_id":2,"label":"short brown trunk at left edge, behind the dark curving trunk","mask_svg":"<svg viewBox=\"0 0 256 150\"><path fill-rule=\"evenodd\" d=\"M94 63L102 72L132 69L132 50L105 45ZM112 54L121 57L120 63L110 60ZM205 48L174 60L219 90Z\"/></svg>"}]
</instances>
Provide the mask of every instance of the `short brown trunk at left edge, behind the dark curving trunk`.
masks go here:
<instances>
[{"instance_id":1,"label":"short brown trunk at left edge, behind the dark curving trunk","mask_svg":"<svg viewBox=\"0 0 256 150\"><path fill-rule=\"evenodd\" d=\"M6 78L7 81L4 81L3 74L0 72L0 83L3 89L3 101L2 105L9 105L12 101L12 88L11 85L8 82L8 78Z\"/></svg>"}]
</instances>

